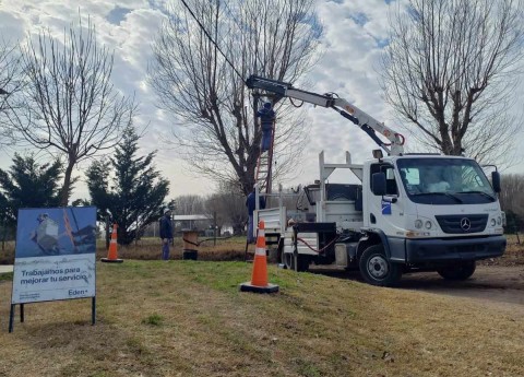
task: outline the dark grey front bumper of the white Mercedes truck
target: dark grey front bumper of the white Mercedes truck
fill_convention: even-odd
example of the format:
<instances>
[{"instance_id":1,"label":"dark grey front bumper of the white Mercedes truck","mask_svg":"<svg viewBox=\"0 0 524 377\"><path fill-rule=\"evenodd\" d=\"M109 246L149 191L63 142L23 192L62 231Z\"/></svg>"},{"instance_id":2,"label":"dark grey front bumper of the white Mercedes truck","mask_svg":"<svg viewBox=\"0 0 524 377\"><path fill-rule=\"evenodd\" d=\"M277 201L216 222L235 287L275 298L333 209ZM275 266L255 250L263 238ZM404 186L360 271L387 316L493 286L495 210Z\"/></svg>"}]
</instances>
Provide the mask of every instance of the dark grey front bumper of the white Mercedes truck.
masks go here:
<instances>
[{"instance_id":1,"label":"dark grey front bumper of the white Mercedes truck","mask_svg":"<svg viewBox=\"0 0 524 377\"><path fill-rule=\"evenodd\" d=\"M445 263L460 260L497 258L504 254L504 236L483 238L406 239L408 263Z\"/></svg>"}]
</instances>

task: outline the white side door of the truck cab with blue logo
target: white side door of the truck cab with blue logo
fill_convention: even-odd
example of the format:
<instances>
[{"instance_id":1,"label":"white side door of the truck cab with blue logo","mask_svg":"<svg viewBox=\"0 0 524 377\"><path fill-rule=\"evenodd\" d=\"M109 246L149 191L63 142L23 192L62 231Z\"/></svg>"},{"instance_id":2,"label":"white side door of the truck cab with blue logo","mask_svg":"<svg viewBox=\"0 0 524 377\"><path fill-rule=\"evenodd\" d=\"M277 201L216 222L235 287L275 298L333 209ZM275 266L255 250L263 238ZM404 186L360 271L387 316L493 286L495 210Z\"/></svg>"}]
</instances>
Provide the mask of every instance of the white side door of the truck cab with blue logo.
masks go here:
<instances>
[{"instance_id":1,"label":"white side door of the truck cab with blue logo","mask_svg":"<svg viewBox=\"0 0 524 377\"><path fill-rule=\"evenodd\" d=\"M374 173L385 174L386 195L384 197L376 196L371 191L371 187L368 188L367 205L369 217L365 220L365 224L368 224L369 227L381 229L388 237L394 237L397 232L404 232L401 225L404 220L404 200L398 189L401 182L396 181L395 170L391 164L371 164L369 185L371 185L371 176ZM384 200L384 198L390 198L390 200Z\"/></svg>"}]
</instances>

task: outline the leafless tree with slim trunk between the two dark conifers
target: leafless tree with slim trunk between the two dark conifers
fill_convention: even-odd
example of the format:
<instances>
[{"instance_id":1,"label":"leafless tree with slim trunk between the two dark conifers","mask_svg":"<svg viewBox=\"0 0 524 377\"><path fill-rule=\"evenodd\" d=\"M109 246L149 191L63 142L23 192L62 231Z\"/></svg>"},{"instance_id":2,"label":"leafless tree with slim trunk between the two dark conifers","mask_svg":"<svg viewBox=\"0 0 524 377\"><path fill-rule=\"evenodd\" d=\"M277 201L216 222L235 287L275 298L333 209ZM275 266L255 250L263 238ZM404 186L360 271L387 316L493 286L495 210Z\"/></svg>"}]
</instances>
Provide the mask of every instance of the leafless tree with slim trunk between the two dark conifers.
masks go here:
<instances>
[{"instance_id":1,"label":"leafless tree with slim trunk between the two dark conifers","mask_svg":"<svg viewBox=\"0 0 524 377\"><path fill-rule=\"evenodd\" d=\"M55 150L66 158L60 203L67 205L72 170L81 161L114 148L135 113L132 99L120 96L110 78L114 56L98 46L95 26L73 25L63 40L50 32L23 47L26 74L23 111L12 114L13 127L33 146Z\"/></svg>"}]
</instances>

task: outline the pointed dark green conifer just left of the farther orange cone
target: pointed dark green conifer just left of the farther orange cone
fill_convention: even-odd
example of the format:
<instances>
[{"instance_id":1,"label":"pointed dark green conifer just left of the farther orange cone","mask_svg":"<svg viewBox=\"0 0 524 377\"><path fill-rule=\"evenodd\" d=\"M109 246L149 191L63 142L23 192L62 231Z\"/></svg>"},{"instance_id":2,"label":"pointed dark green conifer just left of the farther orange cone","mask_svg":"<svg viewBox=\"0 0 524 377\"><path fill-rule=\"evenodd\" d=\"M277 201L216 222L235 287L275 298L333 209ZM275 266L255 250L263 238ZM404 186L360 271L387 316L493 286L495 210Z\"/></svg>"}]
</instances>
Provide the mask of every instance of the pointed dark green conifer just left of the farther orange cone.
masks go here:
<instances>
[{"instance_id":1,"label":"pointed dark green conifer just left of the farther orange cone","mask_svg":"<svg viewBox=\"0 0 524 377\"><path fill-rule=\"evenodd\" d=\"M138 156L140 137L128 127L115 157L94 162L87 169L91 203L99 220L107 212L118 224L118 243L129 245L157 221L169 193L169 181L153 165L156 152Z\"/></svg>"}]
</instances>

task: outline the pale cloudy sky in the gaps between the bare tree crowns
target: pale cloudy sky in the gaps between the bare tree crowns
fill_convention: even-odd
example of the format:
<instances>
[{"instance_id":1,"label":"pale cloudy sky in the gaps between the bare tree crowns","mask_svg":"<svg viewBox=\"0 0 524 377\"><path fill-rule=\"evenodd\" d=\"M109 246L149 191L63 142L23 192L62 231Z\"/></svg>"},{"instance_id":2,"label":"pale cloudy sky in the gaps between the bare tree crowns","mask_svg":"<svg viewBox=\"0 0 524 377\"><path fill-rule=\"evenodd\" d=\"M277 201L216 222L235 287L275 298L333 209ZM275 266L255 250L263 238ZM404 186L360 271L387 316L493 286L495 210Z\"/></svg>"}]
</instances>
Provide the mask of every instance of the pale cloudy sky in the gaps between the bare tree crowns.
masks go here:
<instances>
[{"instance_id":1,"label":"pale cloudy sky in the gaps between the bare tree crowns","mask_svg":"<svg viewBox=\"0 0 524 377\"><path fill-rule=\"evenodd\" d=\"M398 1L398 0L397 0ZM147 86L146 68L150 43L163 14L157 4L164 0L0 0L0 33L3 38L23 39L43 27L61 35L63 28L82 15L90 14L100 42L115 50L112 80L126 95L135 94L140 103L136 125L150 125L141 140L144 153L158 150L157 167L171 181L171 197L186 193L210 193L213 185L189 175L177 153L164 143L174 121L155 106L155 94ZM381 98L376 71L388 37L388 12L394 0L318 0L318 12L324 24L321 40L324 51L309 73L314 83L310 91L335 92L391 128L394 117ZM300 177L286 185L311 182L318 177L318 154L324 150L326 162L343 162L344 151L361 163L370 157L376 144L356 126L333 110L305 106L310 122L309 145L298 166ZM0 167L7 168L11 155L0 152ZM513 170L520 173L517 167ZM85 185L79 185L74 198L86 198Z\"/></svg>"}]
</instances>

